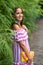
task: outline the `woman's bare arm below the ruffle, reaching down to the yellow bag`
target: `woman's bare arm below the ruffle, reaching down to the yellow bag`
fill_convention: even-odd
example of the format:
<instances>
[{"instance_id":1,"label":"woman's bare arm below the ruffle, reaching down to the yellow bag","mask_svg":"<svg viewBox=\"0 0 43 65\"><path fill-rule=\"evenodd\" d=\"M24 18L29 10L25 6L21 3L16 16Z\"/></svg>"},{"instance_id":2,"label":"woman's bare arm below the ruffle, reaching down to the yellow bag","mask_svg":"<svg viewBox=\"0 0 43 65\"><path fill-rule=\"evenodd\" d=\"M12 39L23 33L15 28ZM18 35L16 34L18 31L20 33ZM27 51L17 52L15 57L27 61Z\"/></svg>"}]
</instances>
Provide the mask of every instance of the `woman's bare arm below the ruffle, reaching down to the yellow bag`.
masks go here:
<instances>
[{"instance_id":1,"label":"woman's bare arm below the ruffle, reaching down to the yellow bag","mask_svg":"<svg viewBox=\"0 0 43 65\"><path fill-rule=\"evenodd\" d=\"M24 52L26 53L28 59L29 59L29 62L32 62L32 59L33 59L33 56L34 55L30 55L30 51L28 50L28 48L26 47L24 41L19 41L18 42L20 44L20 46L22 47L22 49L24 50Z\"/></svg>"}]
</instances>

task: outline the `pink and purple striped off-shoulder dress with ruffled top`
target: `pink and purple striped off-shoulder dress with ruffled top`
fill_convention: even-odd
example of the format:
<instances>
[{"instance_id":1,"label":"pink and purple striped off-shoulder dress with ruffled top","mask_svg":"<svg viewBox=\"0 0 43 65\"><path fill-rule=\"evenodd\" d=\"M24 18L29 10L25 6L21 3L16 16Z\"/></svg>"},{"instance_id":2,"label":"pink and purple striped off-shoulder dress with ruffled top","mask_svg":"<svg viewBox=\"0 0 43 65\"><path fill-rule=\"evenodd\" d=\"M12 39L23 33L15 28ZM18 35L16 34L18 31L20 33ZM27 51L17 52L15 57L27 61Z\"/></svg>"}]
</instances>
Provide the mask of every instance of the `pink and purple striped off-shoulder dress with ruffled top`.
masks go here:
<instances>
[{"instance_id":1,"label":"pink and purple striped off-shoulder dress with ruffled top","mask_svg":"<svg viewBox=\"0 0 43 65\"><path fill-rule=\"evenodd\" d=\"M21 30L13 30L14 35L12 36L12 39L14 40L13 43L13 56L14 56L14 61L13 65L33 65L33 63L29 64L27 62L22 62L21 61L21 52L23 49L20 47L18 41L23 40L26 47L28 50L30 50L29 42L28 42L28 34L24 29Z\"/></svg>"}]
</instances>

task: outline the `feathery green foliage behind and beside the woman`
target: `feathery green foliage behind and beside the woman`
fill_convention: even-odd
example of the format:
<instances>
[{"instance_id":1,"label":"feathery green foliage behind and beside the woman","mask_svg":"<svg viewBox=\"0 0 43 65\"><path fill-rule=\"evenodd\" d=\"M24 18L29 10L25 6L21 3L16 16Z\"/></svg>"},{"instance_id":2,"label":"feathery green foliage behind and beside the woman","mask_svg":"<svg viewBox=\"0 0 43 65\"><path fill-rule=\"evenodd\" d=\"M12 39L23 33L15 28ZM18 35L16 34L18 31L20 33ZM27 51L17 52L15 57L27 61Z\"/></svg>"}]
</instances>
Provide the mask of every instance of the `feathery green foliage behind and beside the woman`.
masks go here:
<instances>
[{"instance_id":1,"label":"feathery green foliage behind and beside the woman","mask_svg":"<svg viewBox=\"0 0 43 65\"><path fill-rule=\"evenodd\" d=\"M29 34L36 28L36 20L43 16L41 9L42 0L0 0L0 65L12 65L12 39L11 23L13 9L19 6L24 11L24 24L28 27Z\"/></svg>"}]
</instances>

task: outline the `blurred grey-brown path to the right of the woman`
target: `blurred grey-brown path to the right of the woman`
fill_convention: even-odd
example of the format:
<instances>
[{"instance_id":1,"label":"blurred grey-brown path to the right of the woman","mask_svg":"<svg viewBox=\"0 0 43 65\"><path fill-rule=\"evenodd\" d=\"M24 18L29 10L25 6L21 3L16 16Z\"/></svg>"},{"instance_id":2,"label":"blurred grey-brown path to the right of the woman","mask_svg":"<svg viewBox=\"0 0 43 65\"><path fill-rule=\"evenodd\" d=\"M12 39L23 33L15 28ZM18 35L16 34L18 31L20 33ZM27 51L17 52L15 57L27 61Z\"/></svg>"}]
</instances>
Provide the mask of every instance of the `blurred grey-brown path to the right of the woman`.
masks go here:
<instances>
[{"instance_id":1,"label":"blurred grey-brown path to the right of the woman","mask_svg":"<svg viewBox=\"0 0 43 65\"><path fill-rule=\"evenodd\" d=\"M38 20L38 29L31 35L30 46L35 51L35 65L43 65L43 19Z\"/></svg>"}]
</instances>

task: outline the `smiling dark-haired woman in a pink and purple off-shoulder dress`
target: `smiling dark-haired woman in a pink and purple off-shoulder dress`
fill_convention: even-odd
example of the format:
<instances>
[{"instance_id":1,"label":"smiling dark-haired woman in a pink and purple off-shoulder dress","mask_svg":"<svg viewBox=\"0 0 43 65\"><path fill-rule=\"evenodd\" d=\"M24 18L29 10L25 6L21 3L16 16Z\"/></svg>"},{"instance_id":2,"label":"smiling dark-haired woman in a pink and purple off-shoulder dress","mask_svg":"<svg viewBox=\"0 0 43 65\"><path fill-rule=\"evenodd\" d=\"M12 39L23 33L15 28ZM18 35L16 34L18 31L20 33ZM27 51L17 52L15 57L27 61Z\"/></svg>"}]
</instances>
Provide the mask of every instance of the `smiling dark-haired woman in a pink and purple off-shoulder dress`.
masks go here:
<instances>
[{"instance_id":1,"label":"smiling dark-haired woman in a pink and purple off-shoulder dress","mask_svg":"<svg viewBox=\"0 0 43 65\"><path fill-rule=\"evenodd\" d=\"M14 62L13 65L33 65L32 59L34 54L30 55L30 46L28 42L28 29L23 25L23 10L19 7L14 9L13 17L15 18L15 24L12 24L13 31L13 54ZM27 61L23 61L22 52L25 52L28 57ZM25 60L25 59L24 59Z\"/></svg>"}]
</instances>

